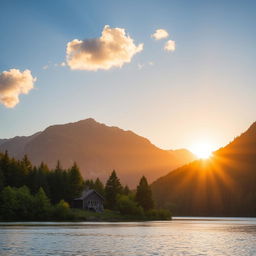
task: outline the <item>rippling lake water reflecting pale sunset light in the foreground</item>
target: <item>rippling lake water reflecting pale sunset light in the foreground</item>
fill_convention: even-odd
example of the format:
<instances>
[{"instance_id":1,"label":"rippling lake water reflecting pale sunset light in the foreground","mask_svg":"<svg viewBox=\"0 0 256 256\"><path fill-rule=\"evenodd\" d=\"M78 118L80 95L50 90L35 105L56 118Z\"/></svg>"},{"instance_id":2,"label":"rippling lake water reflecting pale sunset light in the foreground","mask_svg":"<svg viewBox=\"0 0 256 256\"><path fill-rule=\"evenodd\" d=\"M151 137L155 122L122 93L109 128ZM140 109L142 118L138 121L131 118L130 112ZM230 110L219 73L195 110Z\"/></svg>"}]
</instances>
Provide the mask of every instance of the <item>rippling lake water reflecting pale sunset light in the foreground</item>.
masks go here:
<instances>
[{"instance_id":1,"label":"rippling lake water reflecting pale sunset light in the foreground","mask_svg":"<svg viewBox=\"0 0 256 256\"><path fill-rule=\"evenodd\" d=\"M256 255L256 219L0 223L0 255Z\"/></svg>"}]
</instances>

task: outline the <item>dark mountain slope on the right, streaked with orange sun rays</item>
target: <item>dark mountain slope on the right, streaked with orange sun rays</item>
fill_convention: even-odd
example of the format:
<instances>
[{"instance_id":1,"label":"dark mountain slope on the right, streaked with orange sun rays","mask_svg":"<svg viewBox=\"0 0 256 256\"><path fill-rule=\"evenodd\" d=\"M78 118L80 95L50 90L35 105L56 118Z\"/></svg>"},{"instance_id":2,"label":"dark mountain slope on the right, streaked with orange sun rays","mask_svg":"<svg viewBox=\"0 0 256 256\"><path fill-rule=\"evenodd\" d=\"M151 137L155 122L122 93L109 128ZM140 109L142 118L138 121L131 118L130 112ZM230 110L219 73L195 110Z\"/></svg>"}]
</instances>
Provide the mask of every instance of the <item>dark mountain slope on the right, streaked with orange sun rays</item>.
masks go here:
<instances>
[{"instance_id":1,"label":"dark mountain slope on the right, streaked with orange sun rays","mask_svg":"<svg viewBox=\"0 0 256 256\"><path fill-rule=\"evenodd\" d=\"M175 215L256 216L256 122L209 160L159 178L152 190Z\"/></svg>"}]
</instances>

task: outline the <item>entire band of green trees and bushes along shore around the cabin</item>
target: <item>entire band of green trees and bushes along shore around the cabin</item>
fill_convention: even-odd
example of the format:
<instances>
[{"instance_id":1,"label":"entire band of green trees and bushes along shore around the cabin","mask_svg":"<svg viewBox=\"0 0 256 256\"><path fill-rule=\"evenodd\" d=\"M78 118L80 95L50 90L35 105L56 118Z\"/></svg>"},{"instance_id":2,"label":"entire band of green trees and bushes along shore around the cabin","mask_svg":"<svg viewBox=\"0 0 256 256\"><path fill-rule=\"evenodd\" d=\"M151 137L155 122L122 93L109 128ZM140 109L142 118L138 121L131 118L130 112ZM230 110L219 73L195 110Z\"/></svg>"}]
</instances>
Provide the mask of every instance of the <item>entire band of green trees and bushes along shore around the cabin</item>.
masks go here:
<instances>
[{"instance_id":1,"label":"entire band of green trees and bushes along shore around the cabin","mask_svg":"<svg viewBox=\"0 0 256 256\"><path fill-rule=\"evenodd\" d=\"M33 166L0 153L0 219L2 220L76 220L84 213L70 209L83 189L95 189L105 198L105 208L122 215L147 219L170 219L170 212L154 208L151 188L145 177L136 191L123 187L113 171L106 185L99 180L84 181L76 163L64 169L58 162L53 170L41 163Z\"/></svg>"}]
</instances>

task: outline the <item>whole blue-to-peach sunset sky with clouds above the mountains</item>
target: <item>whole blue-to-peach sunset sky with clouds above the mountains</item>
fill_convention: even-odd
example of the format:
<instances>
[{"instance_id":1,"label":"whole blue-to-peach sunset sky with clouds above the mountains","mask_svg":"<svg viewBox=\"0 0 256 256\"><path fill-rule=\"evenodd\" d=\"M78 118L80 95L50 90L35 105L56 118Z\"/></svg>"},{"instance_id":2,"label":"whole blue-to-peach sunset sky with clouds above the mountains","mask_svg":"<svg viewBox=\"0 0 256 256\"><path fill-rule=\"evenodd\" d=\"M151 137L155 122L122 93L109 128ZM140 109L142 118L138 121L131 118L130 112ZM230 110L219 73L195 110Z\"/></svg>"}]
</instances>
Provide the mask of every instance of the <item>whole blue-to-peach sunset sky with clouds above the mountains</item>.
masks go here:
<instances>
[{"instance_id":1,"label":"whole blue-to-peach sunset sky with clouds above the mountains","mask_svg":"<svg viewBox=\"0 0 256 256\"><path fill-rule=\"evenodd\" d=\"M256 121L255 8L1 0L0 138L92 117L163 149L224 146Z\"/></svg>"}]
</instances>

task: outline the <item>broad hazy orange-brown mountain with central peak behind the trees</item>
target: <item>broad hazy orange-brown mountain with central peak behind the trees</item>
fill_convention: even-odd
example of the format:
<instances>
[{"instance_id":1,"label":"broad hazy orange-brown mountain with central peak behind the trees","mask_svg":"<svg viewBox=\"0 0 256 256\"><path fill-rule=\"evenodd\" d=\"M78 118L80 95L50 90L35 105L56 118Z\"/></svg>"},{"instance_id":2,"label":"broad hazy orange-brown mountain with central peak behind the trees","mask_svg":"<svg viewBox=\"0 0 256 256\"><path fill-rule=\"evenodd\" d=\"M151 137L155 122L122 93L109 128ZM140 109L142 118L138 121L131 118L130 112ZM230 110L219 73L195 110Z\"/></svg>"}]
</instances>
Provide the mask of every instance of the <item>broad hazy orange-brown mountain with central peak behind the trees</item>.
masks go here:
<instances>
[{"instance_id":1,"label":"broad hazy orange-brown mountain with central peak behind the trees","mask_svg":"<svg viewBox=\"0 0 256 256\"><path fill-rule=\"evenodd\" d=\"M57 160L65 168L76 161L85 178L105 181L115 169L121 181L132 187L142 175L151 182L195 159L186 150L162 150L131 131L109 127L92 118L2 141L0 151L5 150L17 159L27 154L33 164L43 161L51 168Z\"/></svg>"}]
</instances>

